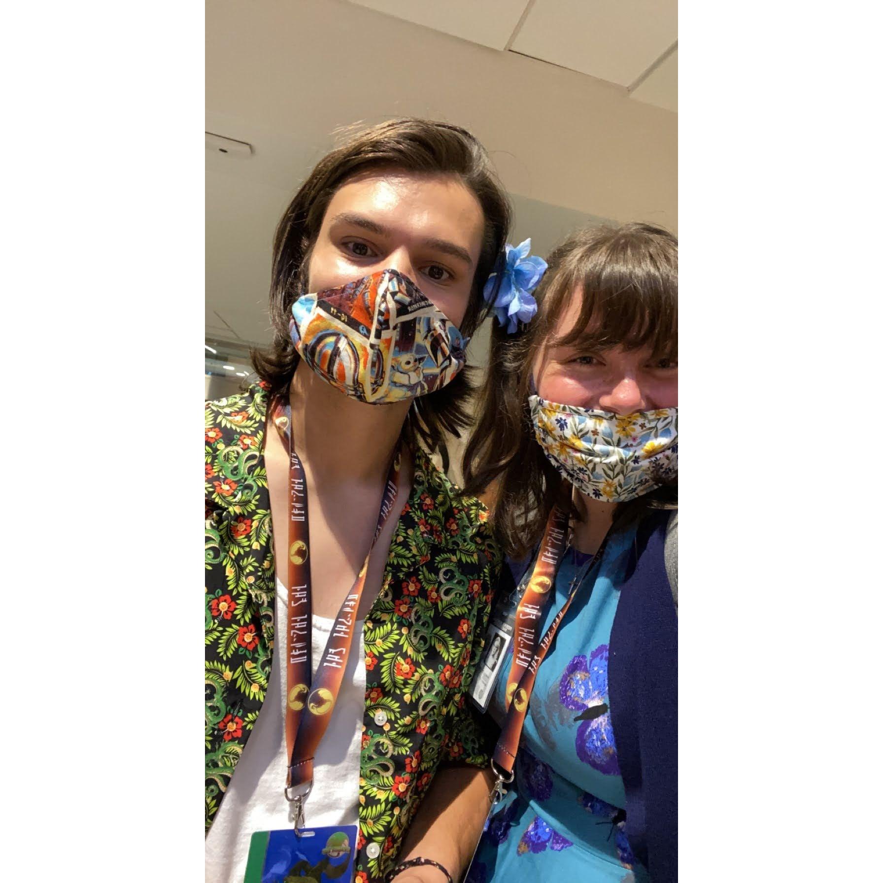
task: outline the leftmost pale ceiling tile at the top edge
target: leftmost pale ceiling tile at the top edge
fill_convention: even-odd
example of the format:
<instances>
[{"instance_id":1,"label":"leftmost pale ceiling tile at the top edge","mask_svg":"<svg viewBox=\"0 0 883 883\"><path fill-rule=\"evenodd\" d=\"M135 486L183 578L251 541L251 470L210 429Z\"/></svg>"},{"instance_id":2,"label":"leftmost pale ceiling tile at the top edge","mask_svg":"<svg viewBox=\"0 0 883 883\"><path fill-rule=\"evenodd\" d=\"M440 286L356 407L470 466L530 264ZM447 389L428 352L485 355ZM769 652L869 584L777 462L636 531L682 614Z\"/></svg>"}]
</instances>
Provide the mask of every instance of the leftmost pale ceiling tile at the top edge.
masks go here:
<instances>
[{"instance_id":1,"label":"leftmost pale ceiling tile at the top edge","mask_svg":"<svg viewBox=\"0 0 883 883\"><path fill-rule=\"evenodd\" d=\"M451 34L489 46L506 49L529 0L351 0L378 12L415 25L431 27L442 34Z\"/></svg>"}]
</instances>

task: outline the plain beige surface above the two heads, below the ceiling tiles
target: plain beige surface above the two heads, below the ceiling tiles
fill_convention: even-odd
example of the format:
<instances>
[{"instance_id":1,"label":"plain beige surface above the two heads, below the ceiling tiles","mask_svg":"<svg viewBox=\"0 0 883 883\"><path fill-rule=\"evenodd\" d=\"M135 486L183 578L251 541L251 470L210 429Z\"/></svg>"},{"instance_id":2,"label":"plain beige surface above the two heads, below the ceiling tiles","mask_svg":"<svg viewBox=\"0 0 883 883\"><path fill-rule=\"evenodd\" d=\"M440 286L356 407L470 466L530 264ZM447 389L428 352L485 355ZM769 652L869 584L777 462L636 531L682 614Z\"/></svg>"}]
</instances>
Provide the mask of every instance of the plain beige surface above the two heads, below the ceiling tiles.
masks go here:
<instances>
[{"instance_id":1,"label":"plain beige surface above the two heads, below the ceiling tiles","mask_svg":"<svg viewBox=\"0 0 883 883\"><path fill-rule=\"evenodd\" d=\"M331 132L359 120L469 128L513 194L516 237L540 253L592 218L676 229L677 115L621 87L343 0L212 0L206 40L206 128L254 146L248 159L207 154L216 336L267 339L275 223Z\"/></svg>"}]
</instances>

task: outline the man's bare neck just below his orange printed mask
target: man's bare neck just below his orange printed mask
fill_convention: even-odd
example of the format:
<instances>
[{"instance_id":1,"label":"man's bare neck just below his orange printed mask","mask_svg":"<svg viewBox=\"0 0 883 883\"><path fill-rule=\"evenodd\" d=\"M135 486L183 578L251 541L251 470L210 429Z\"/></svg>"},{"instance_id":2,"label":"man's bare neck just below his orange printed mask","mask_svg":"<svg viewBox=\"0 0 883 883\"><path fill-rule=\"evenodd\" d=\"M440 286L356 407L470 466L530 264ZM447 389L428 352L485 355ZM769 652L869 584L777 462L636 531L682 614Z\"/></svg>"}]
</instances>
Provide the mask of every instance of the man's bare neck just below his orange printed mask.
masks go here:
<instances>
[{"instance_id":1,"label":"man's bare neck just below his orange printed mask","mask_svg":"<svg viewBox=\"0 0 883 883\"><path fill-rule=\"evenodd\" d=\"M291 379L294 447L311 471L340 482L383 480L410 402L366 404L299 362Z\"/></svg>"}]
</instances>

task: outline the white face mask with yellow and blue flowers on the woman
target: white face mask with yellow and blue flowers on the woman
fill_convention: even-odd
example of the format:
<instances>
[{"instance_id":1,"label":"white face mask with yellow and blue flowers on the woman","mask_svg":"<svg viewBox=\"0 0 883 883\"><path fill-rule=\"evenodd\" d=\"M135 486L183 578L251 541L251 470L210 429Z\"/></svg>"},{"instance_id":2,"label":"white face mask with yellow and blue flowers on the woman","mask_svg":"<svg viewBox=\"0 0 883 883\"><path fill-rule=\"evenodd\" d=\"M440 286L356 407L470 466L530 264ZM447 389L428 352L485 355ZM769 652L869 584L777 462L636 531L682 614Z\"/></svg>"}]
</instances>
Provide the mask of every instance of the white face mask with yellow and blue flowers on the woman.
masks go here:
<instances>
[{"instance_id":1,"label":"white face mask with yellow and blue flowers on the woman","mask_svg":"<svg viewBox=\"0 0 883 883\"><path fill-rule=\"evenodd\" d=\"M530 396L533 431L555 469L584 494L626 502L677 475L677 408L619 417Z\"/></svg>"}]
</instances>

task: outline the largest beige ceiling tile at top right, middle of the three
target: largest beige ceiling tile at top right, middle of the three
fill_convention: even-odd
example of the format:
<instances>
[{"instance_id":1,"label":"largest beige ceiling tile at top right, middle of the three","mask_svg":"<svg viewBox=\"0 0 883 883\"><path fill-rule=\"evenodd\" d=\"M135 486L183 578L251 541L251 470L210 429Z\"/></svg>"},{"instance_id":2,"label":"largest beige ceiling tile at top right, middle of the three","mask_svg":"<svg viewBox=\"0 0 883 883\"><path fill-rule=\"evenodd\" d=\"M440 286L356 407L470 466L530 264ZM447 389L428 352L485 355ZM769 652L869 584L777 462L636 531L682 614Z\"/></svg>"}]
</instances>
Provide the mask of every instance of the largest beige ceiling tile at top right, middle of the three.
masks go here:
<instances>
[{"instance_id":1,"label":"largest beige ceiling tile at top right, middle of the three","mask_svg":"<svg viewBox=\"0 0 883 883\"><path fill-rule=\"evenodd\" d=\"M511 49L629 87L677 40L677 0L536 0Z\"/></svg>"}]
</instances>

